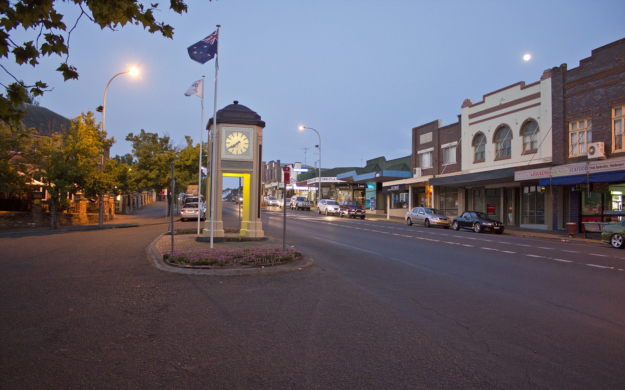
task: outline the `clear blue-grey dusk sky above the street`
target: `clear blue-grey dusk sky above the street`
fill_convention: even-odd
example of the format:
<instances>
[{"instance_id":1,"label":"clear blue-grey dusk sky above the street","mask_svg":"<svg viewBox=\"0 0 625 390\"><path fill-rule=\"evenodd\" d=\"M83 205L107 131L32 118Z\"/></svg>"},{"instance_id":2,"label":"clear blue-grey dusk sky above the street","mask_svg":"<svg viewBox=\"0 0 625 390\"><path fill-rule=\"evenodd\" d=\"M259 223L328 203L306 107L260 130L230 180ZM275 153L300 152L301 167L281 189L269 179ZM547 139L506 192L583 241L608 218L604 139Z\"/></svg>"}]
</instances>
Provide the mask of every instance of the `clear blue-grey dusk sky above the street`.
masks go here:
<instances>
[{"instance_id":1,"label":"clear blue-grey dusk sky above the street","mask_svg":"<svg viewBox=\"0 0 625 390\"><path fill-rule=\"evenodd\" d=\"M57 4L73 26L78 7ZM297 127L316 129L322 167L332 168L409 155L412 127L456 122L467 97L479 101L506 85L529 84L565 62L571 69L592 49L625 36L622 21L605 19L610 9L622 14L622 1L603 1L596 12L596 1L214 0L187 2L183 16L167 4L156 19L175 28L173 40L138 26L101 31L81 19L69 42L79 80L63 82L56 56L34 69L2 63L18 79L54 87L41 105L66 117L94 111L108 80L138 67L139 77L118 76L107 95L106 130L117 140L111 154L122 155L131 152L126 135L141 129L168 132L176 144L184 135L197 141L200 99L184 92L206 76L206 126L214 60L194 62L186 48L221 24L217 108L238 100L261 115L265 161L304 162L303 148L311 148L306 162L314 165L317 135ZM1 79L11 82L7 74Z\"/></svg>"}]
</instances>

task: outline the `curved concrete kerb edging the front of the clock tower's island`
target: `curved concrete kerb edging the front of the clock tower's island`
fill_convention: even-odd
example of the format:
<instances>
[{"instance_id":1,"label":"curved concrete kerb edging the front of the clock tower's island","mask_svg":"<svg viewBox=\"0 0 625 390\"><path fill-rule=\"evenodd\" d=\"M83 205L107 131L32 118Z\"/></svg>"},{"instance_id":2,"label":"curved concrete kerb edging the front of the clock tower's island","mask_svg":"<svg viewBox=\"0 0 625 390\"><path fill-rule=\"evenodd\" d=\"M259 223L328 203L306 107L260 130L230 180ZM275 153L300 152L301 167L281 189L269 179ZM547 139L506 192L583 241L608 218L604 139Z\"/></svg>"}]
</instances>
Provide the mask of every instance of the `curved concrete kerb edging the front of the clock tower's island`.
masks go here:
<instances>
[{"instance_id":1,"label":"curved concrete kerb edging the front of the clock tower's island","mask_svg":"<svg viewBox=\"0 0 625 390\"><path fill-rule=\"evenodd\" d=\"M164 234L156 237L148 246L148 253L154 261L154 265L161 271L182 273L184 275L206 275L206 276L254 276L254 275L271 275L272 273L281 273L297 270L306 270L314 265L314 260L310 256L304 256L302 260L294 261L285 265L271 266L267 268L242 268L239 270L201 270L197 268L179 268L171 266L167 261L163 260L163 255L156 249L156 243L161 240Z\"/></svg>"}]
</instances>

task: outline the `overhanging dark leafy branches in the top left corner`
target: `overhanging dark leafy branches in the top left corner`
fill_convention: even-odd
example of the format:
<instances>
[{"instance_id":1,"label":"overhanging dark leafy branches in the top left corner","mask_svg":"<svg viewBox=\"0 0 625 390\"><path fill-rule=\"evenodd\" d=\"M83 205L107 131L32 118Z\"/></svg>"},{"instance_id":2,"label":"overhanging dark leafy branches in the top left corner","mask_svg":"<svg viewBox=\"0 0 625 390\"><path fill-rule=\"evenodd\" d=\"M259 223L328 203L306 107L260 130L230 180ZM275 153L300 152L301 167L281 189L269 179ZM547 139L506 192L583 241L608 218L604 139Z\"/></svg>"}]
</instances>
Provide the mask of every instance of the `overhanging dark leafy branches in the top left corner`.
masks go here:
<instances>
[{"instance_id":1,"label":"overhanging dark leafy branches in the top left corner","mask_svg":"<svg viewBox=\"0 0 625 390\"><path fill-rule=\"evenodd\" d=\"M53 54L63 58L61 66L56 69L63 74L64 79L78 79L78 69L68 64L69 39L71 33L78 26L81 17L98 24L101 29L115 31L117 27L126 24L141 24L148 32L160 32L164 37L173 38L174 27L154 19L154 11L158 10L158 3L144 7L137 0L68 0L81 10L78 18L69 29L63 21L63 15L56 12L54 0L0 0L0 58L9 59L9 52L15 57L19 65L29 64L35 67L39 59ZM183 0L170 0L169 9L178 14L187 12L187 4ZM71 25L71 24L70 24ZM11 33L22 27L27 34L31 34L31 41L17 44L12 41ZM1 65L0 65L1 66ZM48 85L42 80L32 85L20 83L4 66L15 82L3 85L6 96L0 94L0 119L16 128L26 111L20 107L29 99L49 91Z\"/></svg>"}]
</instances>

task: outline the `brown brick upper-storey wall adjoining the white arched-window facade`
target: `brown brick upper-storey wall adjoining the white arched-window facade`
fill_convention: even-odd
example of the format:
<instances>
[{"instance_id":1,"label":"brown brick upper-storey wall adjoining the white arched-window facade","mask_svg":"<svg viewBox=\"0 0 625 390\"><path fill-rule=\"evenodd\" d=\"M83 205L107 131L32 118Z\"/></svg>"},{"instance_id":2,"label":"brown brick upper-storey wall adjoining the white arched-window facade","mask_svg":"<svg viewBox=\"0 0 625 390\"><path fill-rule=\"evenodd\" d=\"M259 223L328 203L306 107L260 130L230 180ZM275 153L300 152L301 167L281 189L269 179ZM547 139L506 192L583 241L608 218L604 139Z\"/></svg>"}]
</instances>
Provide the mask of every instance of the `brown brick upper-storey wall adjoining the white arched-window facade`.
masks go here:
<instances>
[{"instance_id":1,"label":"brown brick upper-storey wall adjoining the white arched-window facade","mask_svg":"<svg viewBox=\"0 0 625 390\"><path fill-rule=\"evenodd\" d=\"M432 132L432 141L421 144L420 136ZM422 175L441 175L441 173L454 173L461 171L461 148L456 145L456 163L447 166L442 165L443 149L441 145L451 142L459 142L461 136L460 115L458 122L451 125L442 126L442 120L434 120L427 124L412 128L412 168L419 167L419 150L433 148L432 150L432 168L424 168Z\"/></svg>"}]
</instances>

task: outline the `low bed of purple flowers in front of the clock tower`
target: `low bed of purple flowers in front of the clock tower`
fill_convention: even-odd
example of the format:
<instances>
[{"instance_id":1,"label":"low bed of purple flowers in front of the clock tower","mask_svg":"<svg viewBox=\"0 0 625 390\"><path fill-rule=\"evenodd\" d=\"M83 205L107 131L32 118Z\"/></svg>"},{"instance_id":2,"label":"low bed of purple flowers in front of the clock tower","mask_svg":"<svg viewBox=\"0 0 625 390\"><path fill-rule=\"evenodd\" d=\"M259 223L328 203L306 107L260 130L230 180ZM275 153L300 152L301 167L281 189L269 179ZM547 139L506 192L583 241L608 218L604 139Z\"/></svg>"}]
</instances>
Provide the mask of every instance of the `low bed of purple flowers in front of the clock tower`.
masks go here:
<instances>
[{"instance_id":1,"label":"low bed of purple flowers in front of the clock tower","mask_svg":"<svg viewBox=\"0 0 625 390\"><path fill-rule=\"evenodd\" d=\"M163 258L169 263L190 266L263 266L299 260L301 251L279 246L249 246L246 248L214 248L203 250L166 252Z\"/></svg>"}]
</instances>

